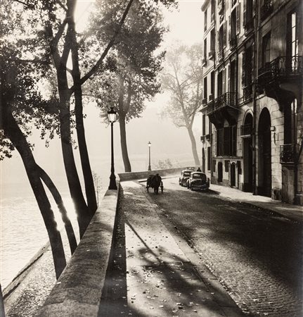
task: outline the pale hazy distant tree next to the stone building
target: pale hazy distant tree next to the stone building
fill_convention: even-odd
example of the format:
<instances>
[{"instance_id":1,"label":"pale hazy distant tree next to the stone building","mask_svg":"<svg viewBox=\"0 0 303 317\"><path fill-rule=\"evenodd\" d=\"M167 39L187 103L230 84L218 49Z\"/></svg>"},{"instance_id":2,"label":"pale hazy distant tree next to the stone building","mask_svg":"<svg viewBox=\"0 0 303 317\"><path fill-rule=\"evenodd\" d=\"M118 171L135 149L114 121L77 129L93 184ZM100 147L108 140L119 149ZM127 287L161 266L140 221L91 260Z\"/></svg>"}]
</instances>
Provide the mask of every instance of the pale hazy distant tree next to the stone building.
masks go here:
<instances>
[{"instance_id":1,"label":"pale hazy distant tree next to the stone building","mask_svg":"<svg viewBox=\"0 0 303 317\"><path fill-rule=\"evenodd\" d=\"M162 73L162 87L171 96L162 116L171 118L176 127L186 128L197 166L200 161L193 135L193 120L202 104L202 57L200 44L174 46L167 51Z\"/></svg>"}]
</instances>

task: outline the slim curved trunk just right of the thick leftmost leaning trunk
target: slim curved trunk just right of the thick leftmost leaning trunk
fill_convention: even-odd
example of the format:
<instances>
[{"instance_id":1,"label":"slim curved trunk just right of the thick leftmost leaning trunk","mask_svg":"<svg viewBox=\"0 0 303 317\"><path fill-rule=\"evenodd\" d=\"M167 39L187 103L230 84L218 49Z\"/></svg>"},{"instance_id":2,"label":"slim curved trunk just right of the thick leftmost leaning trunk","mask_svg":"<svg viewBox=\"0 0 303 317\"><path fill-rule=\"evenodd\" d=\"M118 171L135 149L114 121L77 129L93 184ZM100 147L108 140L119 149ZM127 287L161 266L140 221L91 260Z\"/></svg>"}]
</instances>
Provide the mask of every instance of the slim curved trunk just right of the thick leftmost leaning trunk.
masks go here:
<instances>
[{"instance_id":1,"label":"slim curved trunk just right of the thick leftmost leaning trunk","mask_svg":"<svg viewBox=\"0 0 303 317\"><path fill-rule=\"evenodd\" d=\"M53 195L53 199L55 199L58 209L61 213L61 217L65 226L65 231L67 234L68 242L70 243L70 253L73 254L75 249L77 248L77 240L75 237L74 229L72 228L72 223L70 222L70 218L67 216L67 211L63 204L62 197L56 185L53 183L49 175L46 174L45 170L43 170L40 166L37 165L37 169L39 170L39 175L41 180L43 180L44 184L49 188L49 191Z\"/></svg>"}]
</instances>

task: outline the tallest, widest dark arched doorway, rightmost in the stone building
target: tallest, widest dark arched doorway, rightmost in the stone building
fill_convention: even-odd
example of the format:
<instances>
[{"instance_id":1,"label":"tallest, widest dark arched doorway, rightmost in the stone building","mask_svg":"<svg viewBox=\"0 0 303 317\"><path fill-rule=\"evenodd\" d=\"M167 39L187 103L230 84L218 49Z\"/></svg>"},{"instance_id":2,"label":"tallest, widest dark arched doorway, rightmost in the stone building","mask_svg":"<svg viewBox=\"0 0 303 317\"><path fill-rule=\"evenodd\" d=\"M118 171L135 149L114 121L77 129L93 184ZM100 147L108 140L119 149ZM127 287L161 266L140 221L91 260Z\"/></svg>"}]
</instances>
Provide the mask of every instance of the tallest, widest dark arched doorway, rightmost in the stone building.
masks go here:
<instances>
[{"instance_id":1,"label":"tallest, widest dark arched doorway, rightmost in the stone building","mask_svg":"<svg viewBox=\"0 0 303 317\"><path fill-rule=\"evenodd\" d=\"M258 135L258 194L271 197L271 115L267 108L264 108L260 114Z\"/></svg>"}]
</instances>

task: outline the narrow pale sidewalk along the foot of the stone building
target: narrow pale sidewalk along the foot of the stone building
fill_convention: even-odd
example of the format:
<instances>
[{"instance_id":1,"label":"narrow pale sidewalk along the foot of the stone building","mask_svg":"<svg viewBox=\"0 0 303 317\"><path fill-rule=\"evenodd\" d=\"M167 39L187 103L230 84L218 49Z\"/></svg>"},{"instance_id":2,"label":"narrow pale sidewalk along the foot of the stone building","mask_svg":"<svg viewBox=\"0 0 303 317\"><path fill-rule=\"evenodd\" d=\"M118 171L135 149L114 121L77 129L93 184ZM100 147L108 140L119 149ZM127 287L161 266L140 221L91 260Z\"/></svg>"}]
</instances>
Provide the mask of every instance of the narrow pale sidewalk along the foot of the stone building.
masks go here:
<instances>
[{"instance_id":1,"label":"narrow pale sidewalk along the foot of the stone building","mask_svg":"<svg viewBox=\"0 0 303 317\"><path fill-rule=\"evenodd\" d=\"M231 187L211 184L209 188L214 192L218 192L221 197L252 204L261 209L266 209L267 211L271 211L273 213L279 213L280 215L295 221L303 221L303 206L286 204L278 200L272 200L269 197L253 195L251 192L242 192L239 189Z\"/></svg>"}]
</instances>

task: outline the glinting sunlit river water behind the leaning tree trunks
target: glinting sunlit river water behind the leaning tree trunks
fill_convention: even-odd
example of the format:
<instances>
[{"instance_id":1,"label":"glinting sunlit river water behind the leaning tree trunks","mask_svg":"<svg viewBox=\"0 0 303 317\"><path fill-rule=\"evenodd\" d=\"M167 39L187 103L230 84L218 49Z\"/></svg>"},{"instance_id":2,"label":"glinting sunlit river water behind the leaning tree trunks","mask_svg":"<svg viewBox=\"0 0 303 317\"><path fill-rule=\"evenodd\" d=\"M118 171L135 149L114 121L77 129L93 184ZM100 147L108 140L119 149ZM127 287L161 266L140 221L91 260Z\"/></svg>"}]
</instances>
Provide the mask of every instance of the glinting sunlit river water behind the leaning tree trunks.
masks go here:
<instances>
[{"instance_id":1,"label":"glinting sunlit river water behind the leaning tree trunks","mask_svg":"<svg viewBox=\"0 0 303 317\"><path fill-rule=\"evenodd\" d=\"M0 272L1 286L4 289L32 259L34 254L49 241L44 221L37 201L30 187L8 187L1 192L1 240ZM104 194L99 194L99 199ZM52 206L56 204L51 199ZM68 192L63 192L63 201L79 242L77 216ZM53 208L61 235L65 235L63 222L58 209Z\"/></svg>"}]
</instances>

